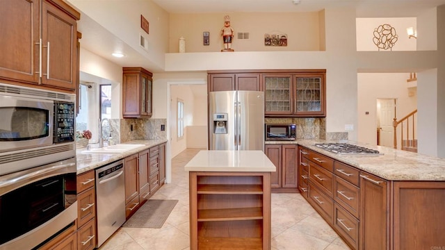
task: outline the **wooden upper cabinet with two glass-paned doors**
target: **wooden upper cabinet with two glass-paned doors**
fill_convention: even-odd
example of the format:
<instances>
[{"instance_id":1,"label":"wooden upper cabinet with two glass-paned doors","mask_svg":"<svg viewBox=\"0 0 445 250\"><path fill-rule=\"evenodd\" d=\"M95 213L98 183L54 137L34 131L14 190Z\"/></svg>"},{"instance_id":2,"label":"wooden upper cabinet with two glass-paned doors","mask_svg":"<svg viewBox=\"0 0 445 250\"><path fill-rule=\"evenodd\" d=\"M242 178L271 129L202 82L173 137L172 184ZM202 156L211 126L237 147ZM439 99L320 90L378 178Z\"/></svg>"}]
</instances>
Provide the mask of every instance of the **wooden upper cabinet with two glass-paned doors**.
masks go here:
<instances>
[{"instance_id":1,"label":"wooden upper cabinet with two glass-paned doors","mask_svg":"<svg viewBox=\"0 0 445 250\"><path fill-rule=\"evenodd\" d=\"M266 117L325 117L325 70L263 74Z\"/></svg>"}]
</instances>

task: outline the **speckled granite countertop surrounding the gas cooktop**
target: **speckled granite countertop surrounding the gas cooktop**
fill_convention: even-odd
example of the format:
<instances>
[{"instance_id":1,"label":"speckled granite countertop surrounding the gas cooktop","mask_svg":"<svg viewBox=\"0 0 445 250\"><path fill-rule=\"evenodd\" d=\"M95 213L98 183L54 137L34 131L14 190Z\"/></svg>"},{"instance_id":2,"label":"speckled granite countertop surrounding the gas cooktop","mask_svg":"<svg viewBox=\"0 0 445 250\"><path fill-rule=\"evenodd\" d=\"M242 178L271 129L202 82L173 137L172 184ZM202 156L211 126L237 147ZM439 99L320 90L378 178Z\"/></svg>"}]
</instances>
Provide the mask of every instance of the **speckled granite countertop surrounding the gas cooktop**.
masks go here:
<instances>
[{"instance_id":1,"label":"speckled granite countertop surrounding the gas cooktop","mask_svg":"<svg viewBox=\"0 0 445 250\"><path fill-rule=\"evenodd\" d=\"M378 156L338 155L320 149L314 144L326 142L345 142L375 149L383 153ZM389 181L445 181L445 159L412 153L389 147L375 146L351 141L296 140L294 142L266 142L266 144L299 144L334 160L362 169L370 174Z\"/></svg>"}]
</instances>

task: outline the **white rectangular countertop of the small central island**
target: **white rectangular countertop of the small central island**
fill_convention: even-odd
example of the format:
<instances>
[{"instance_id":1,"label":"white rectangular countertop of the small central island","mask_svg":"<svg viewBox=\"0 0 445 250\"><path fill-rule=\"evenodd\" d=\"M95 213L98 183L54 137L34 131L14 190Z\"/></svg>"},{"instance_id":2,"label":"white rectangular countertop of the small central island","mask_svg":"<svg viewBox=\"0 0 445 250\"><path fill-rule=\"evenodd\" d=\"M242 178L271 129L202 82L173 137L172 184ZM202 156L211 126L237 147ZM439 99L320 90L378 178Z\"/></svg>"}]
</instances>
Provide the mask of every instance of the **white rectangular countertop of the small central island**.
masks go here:
<instances>
[{"instance_id":1,"label":"white rectangular countertop of the small central island","mask_svg":"<svg viewBox=\"0 0 445 250\"><path fill-rule=\"evenodd\" d=\"M184 167L189 172L275 172L260 150L202 150Z\"/></svg>"}]
</instances>

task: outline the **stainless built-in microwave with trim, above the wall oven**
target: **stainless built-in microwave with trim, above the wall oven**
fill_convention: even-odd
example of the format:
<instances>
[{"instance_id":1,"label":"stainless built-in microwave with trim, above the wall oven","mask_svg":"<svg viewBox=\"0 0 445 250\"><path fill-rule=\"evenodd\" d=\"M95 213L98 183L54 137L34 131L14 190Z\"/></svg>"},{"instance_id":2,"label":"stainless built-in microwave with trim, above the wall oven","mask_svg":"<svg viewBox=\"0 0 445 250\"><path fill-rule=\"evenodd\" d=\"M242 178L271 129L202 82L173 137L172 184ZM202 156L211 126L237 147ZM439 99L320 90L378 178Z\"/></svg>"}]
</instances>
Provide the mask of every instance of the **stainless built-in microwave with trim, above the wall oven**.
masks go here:
<instances>
[{"instance_id":1,"label":"stainless built-in microwave with trim, above the wall oven","mask_svg":"<svg viewBox=\"0 0 445 250\"><path fill-rule=\"evenodd\" d=\"M76 156L76 95L0 83L0 176Z\"/></svg>"}]
</instances>

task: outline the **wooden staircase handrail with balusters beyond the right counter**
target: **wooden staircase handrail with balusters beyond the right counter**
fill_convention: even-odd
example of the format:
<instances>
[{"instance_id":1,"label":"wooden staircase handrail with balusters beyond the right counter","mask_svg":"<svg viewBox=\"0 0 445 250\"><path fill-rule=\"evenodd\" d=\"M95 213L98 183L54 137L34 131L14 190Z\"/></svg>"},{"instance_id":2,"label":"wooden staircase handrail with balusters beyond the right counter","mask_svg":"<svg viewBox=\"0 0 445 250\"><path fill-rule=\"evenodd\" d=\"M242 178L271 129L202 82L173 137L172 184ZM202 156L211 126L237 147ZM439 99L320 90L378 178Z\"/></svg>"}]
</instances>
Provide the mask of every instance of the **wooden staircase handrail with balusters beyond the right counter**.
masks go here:
<instances>
[{"instance_id":1,"label":"wooden staircase handrail with balusters beyond the right counter","mask_svg":"<svg viewBox=\"0 0 445 250\"><path fill-rule=\"evenodd\" d=\"M392 126L394 126L394 149L397 149L397 126L402 124L401 126L401 149L402 150L410 150L417 148L417 140L415 138L415 125L416 125L416 114L417 110L412 111L402 119L397 121L397 118L394 118L392 122ZM405 128L403 127L405 124ZM411 126L410 126L411 124ZM406 133L406 134L405 134ZM410 150L413 151L413 150Z\"/></svg>"}]
</instances>

